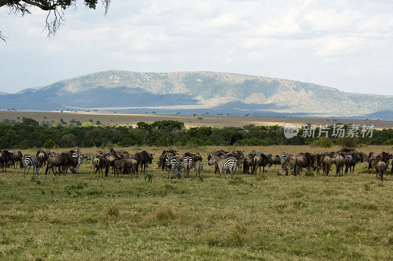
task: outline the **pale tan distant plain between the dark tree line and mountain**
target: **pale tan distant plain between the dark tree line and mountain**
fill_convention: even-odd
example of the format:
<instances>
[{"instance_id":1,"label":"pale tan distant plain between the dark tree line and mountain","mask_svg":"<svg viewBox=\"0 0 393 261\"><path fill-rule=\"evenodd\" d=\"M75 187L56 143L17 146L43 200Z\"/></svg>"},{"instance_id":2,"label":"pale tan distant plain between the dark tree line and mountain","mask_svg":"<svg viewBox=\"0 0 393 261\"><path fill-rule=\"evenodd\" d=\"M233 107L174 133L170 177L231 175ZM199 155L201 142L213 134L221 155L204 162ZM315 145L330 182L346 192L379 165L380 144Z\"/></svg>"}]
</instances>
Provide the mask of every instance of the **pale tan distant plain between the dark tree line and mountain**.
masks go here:
<instances>
[{"instance_id":1,"label":"pale tan distant plain between the dark tree line and mountain","mask_svg":"<svg viewBox=\"0 0 393 261\"><path fill-rule=\"evenodd\" d=\"M204 115L201 116L202 120L198 120L200 116L191 115L169 115L169 114L109 114L109 113L75 113L75 112L27 112L27 111L0 111L0 122L4 119L15 120L18 122L22 121L23 117L32 118L38 121L40 124L42 121L49 122L49 124L58 124L60 119L70 124L72 119L84 123L85 121L92 120L92 124L95 124L97 120L102 125L132 125L136 126L137 122L155 122L162 120L176 120L184 122L184 125L188 127L197 126L211 126L211 127L243 127L247 124L255 124L257 126L272 126L280 125L284 126L286 123L292 123L297 127L304 126L308 123L321 125L334 125L337 123L341 124L356 124L363 126L371 126L373 124L375 129L389 129L393 128L393 121L378 121L378 120L355 120L355 119L333 119L333 118L288 118L288 117L251 117L251 116L213 116ZM46 119L44 117L47 117ZM51 121L54 122L51 122Z\"/></svg>"}]
</instances>

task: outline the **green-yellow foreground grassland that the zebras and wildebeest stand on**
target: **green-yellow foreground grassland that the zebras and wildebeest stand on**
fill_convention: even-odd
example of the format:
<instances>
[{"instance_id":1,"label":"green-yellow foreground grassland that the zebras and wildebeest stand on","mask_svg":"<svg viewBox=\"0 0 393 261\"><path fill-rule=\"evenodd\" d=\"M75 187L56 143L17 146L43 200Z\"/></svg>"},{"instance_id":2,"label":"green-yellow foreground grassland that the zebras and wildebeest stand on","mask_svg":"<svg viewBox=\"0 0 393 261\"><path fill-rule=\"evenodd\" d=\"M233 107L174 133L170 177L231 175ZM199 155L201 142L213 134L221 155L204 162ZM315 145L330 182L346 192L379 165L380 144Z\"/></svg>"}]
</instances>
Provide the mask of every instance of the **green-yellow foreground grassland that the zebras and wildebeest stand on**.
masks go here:
<instances>
[{"instance_id":1,"label":"green-yellow foreground grassland that the zebras and wildebeest stand on","mask_svg":"<svg viewBox=\"0 0 393 261\"><path fill-rule=\"evenodd\" d=\"M162 152L125 149L155 152L155 160ZM265 175L238 174L225 180L207 165L206 153L213 149L189 149L204 158L201 179L192 172L190 179L168 180L157 164L148 168L154 174L151 184L143 175L90 178L91 163L84 164L79 175L45 176L41 170L37 177L24 177L20 169L0 173L0 258L393 259L392 176L386 175L382 183L364 162L344 177L281 177L277 166ZM241 149L272 154L322 150ZM367 154L392 151L387 146L358 149Z\"/></svg>"}]
</instances>

